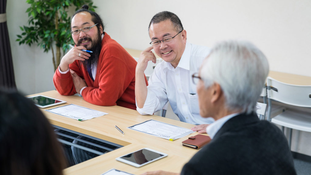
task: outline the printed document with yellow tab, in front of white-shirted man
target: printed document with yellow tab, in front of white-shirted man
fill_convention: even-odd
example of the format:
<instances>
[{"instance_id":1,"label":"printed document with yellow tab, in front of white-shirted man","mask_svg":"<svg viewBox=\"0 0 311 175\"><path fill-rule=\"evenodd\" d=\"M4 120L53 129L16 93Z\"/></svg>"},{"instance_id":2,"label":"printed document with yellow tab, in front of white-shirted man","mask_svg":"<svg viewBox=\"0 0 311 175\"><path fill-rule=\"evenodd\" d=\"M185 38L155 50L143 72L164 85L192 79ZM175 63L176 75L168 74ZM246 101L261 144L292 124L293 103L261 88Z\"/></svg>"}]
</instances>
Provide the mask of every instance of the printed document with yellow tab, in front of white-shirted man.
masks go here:
<instances>
[{"instance_id":1,"label":"printed document with yellow tab, in front of white-shirted man","mask_svg":"<svg viewBox=\"0 0 311 175\"><path fill-rule=\"evenodd\" d=\"M148 120L143 123L128 127L132 130L137 130L143 133L154 135L167 140L176 140L186 135L194 133L193 130L182 128L175 125L170 125L155 120Z\"/></svg>"}]
</instances>

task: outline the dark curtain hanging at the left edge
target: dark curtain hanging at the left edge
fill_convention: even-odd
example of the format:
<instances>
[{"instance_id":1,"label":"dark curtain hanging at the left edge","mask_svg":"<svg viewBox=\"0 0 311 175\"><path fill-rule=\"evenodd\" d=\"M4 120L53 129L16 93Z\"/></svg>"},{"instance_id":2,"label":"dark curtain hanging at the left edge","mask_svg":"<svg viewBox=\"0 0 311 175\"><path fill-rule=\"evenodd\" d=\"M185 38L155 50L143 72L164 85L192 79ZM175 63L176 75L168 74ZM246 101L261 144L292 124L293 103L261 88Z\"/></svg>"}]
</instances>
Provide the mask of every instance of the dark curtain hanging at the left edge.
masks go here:
<instances>
[{"instance_id":1,"label":"dark curtain hanging at the left edge","mask_svg":"<svg viewBox=\"0 0 311 175\"><path fill-rule=\"evenodd\" d=\"M0 87L16 88L6 20L7 0L0 0Z\"/></svg>"}]
</instances>

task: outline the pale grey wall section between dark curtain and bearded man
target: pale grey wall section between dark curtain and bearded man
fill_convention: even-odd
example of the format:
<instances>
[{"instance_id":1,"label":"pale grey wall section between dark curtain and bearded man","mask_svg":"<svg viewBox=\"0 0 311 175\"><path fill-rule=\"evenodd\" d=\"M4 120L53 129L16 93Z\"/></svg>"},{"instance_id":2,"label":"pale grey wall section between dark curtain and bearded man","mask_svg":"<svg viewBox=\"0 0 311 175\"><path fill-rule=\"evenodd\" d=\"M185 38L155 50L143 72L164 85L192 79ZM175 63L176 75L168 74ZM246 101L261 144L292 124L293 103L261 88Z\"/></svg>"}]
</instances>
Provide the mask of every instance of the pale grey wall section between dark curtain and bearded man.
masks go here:
<instances>
[{"instance_id":1,"label":"pale grey wall section between dark curtain and bearded man","mask_svg":"<svg viewBox=\"0 0 311 175\"><path fill-rule=\"evenodd\" d=\"M19 45L16 35L19 26L28 26L29 7L26 1L7 1L7 25L12 50L15 81L18 90L26 95L53 90L53 64L51 53L44 53L36 44Z\"/></svg>"}]
</instances>

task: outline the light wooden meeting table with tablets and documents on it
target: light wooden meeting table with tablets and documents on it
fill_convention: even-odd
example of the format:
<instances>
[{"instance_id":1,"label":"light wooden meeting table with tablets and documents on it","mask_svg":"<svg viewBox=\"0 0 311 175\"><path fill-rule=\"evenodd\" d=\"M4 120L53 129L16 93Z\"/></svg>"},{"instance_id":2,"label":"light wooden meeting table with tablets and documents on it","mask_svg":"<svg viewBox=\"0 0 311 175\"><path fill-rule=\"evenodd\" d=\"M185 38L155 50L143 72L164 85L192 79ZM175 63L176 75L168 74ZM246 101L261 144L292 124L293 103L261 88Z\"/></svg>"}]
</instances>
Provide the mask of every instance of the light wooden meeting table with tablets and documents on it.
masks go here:
<instances>
[{"instance_id":1,"label":"light wooden meeting table with tablets and documents on it","mask_svg":"<svg viewBox=\"0 0 311 175\"><path fill-rule=\"evenodd\" d=\"M77 121L74 119L66 118L64 116L59 116L44 111L45 109L51 109L54 108L55 106L42 109L44 115L49 119L50 123L53 125L57 125L63 128L67 128L69 130L74 130L102 140L107 140L109 142L123 145L123 147L119 149L100 155L88 161L79 163L75 166L66 168L64 170L64 173L66 175L68 174L100 175L111 168L126 171L132 174L141 174L146 171L155 171L155 170L165 170L179 173L183 165L187 163L195 153L197 153L196 149L184 147L182 146L181 143L183 140L186 140L189 136L196 135L197 133L193 133L181 139L169 141L166 139L162 139L156 136L148 135L127 128L129 126L139 124L151 119L172 125L177 125L188 129L194 126L192 124L184 123L181 121L175 121L169 118L164 118L155 115L142 116L135 110L131 110L120 106L96 106L84 101L82 97L63 96L60 95L57 91L48 91L38 94L67 101L67 103L63 105L75 104L109 113L108 115L100 116L98 118L93 118L87 121ZM124 135L121 134L114 127L114 125L117 125L121 130L123 130ZM130 152L145 147L166 153L168 154L168 157L145 165L141 168L135 168L128 164L121 163L115 160L115 158L119 156L128 154Z\"/></svg>"}]
</instances>

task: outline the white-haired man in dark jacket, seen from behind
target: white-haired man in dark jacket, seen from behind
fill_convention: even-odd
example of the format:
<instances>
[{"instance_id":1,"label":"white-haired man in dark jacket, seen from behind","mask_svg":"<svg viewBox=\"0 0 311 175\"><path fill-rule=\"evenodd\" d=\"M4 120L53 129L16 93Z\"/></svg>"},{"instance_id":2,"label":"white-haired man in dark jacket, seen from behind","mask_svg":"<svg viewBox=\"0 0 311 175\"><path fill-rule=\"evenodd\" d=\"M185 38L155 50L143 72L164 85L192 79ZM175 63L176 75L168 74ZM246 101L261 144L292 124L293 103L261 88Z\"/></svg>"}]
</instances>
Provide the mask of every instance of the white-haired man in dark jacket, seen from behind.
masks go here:
<instances>
[{"instance_id":1,"label":"white-haired man in dark jacket, seen from behind","mask_svg":"<svg viewBox=\"0 0 311 175\"><path fill-rule=\"evenodd\" d=\"M206 129L212 140L181 174L296 174L281 130L254 112L268 70L264 54L248 42L222 42L211 50L193 80L200 115L215 119Z\"/></svg>"}]
</instances>

